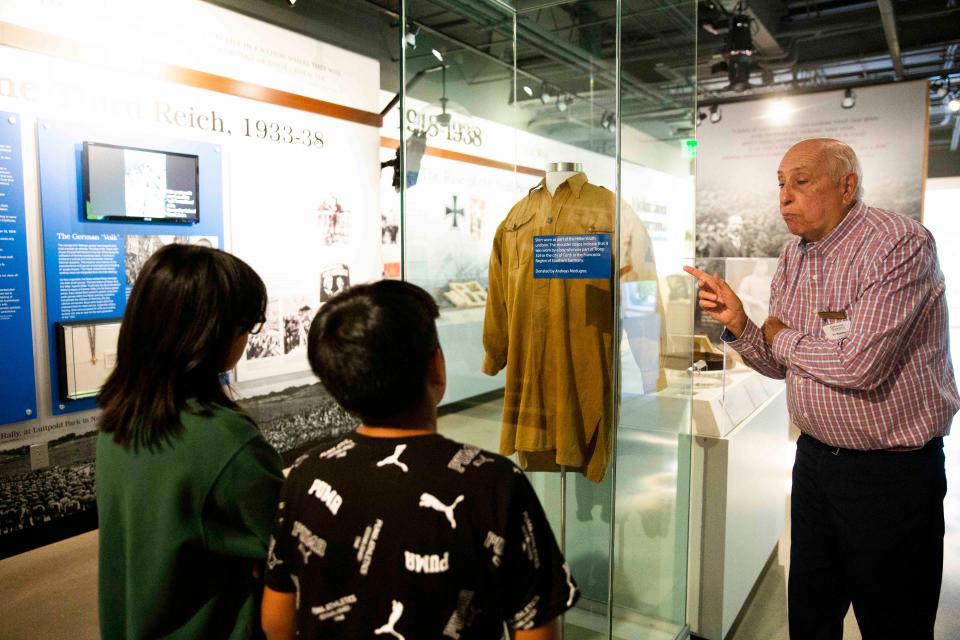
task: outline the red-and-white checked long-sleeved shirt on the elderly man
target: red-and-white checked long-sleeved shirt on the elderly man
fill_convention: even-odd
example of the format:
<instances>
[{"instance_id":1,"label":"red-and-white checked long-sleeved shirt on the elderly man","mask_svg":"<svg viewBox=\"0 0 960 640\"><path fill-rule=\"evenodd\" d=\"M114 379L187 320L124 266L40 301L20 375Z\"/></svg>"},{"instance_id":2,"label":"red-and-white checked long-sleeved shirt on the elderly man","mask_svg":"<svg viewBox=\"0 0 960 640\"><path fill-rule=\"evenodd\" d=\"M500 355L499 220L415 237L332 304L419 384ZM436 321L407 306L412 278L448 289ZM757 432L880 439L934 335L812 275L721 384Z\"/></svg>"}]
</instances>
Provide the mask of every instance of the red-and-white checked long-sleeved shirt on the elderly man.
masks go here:
<instances>
[{"instance_id":1,"label":"red-and-white checked long-sleeved shirt on the elderly man","mask_svg":"<svg viewBox=\"0 0 960 640\"><path fill-rule=\"evenodd\" d=\"M828 339L818 312L845 314L849 335ZM730 345L756 371L786 378L804 433L870 450L915 449L950 432L960 399L943 273L921 224L859 202L819 242L787 243L770 315L790 327L772 348L750 321Z\"/></svg>"}]
</instances>

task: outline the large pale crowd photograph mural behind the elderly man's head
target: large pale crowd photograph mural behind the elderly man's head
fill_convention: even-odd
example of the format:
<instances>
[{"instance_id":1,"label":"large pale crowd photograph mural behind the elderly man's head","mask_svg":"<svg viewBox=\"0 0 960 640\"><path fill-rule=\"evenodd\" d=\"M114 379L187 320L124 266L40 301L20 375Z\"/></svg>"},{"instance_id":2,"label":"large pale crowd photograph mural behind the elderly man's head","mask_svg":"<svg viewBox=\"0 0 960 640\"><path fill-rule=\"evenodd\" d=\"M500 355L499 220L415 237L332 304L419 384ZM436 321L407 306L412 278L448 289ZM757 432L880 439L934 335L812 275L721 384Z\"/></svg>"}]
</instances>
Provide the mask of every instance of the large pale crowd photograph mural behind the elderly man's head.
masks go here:
<instances>
[{"instance_id":1,"label":"large pale crowd photograph mural behind the elderly man's head","mask_svg":"<svg viewBox=\"0 0 960 640\"><path fill-rule=\"evenodd\" d=\"M841 137L862 165L871 206L914 220L923 209L926 83L723 105L723 117L697 129L697 257L775 258L793 236L779 211L777 167L793 143Z\"/></svg>"}]
</instances>

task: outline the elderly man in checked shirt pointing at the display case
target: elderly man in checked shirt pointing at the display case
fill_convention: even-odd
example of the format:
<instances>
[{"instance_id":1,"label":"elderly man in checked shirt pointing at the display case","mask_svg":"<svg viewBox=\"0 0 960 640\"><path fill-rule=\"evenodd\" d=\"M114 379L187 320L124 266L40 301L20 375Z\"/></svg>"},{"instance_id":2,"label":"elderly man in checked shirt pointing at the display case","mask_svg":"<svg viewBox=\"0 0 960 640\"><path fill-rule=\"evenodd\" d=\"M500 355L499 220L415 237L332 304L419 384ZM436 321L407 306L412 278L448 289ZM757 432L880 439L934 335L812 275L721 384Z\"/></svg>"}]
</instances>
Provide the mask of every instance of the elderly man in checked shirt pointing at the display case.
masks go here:
<instances>
[{"instance_id":1,"label":"elderly man in checked shirt pointing at the display case","mask_svg":"<svg viewBox=\"0 0 960 640\"><path fill-rule=\"evenodd\" d=\"M790 635L933 638L943 571L943 436L960 407L943 274L930 233L861 200L860 164L836 140L800 142L777 170L798 238L758 327L716 275L700 307L750 367L786 378L797 441Z\"/></svg>"}]
</instances>

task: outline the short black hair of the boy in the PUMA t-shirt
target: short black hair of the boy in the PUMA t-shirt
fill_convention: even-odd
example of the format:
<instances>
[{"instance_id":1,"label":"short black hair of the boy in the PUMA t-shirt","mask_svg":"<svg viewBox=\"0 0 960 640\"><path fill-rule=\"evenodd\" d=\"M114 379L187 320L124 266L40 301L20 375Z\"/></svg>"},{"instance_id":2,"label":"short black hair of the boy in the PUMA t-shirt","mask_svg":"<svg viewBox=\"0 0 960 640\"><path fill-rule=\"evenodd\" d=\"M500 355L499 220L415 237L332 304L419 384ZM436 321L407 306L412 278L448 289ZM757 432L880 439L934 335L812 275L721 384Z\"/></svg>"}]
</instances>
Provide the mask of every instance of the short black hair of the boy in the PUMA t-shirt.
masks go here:
<instances>
[{"instance_id":1,"label":"short black hair of the boy in the PUMA t-shirt","mask_svg":"<svg viewBox=\"0 0 960 640\"><path fill-rule=\"evenodd\" d=\"M330 395L365 424L406 426L398 421L421 407L427 367L440 347L439 316L430 294L408 282L356 285L313 319L310 366Z\"/></svg>"}]
</instances>

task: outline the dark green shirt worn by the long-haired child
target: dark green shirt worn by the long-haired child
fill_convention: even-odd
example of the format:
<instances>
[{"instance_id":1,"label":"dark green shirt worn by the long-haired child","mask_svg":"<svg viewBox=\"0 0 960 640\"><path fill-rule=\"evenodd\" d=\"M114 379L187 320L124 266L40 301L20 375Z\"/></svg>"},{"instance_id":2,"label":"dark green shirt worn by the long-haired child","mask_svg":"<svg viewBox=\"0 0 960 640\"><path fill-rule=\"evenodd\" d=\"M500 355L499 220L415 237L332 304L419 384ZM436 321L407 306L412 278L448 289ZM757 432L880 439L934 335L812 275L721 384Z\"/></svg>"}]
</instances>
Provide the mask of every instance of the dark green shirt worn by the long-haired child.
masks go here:
<instances>
[{"instance_id":1,"label":"dark green shirt worn by the long-haired child","mask_svg":"<svg viewBox=\"0 0 960 640\"><path fill-rule=\"evenodd\" d=\"M153 450L98 438L103 638L260 636L253 567L266 556L280 456L235 411L181 422Z\"/></svg>"}]
</instances>

